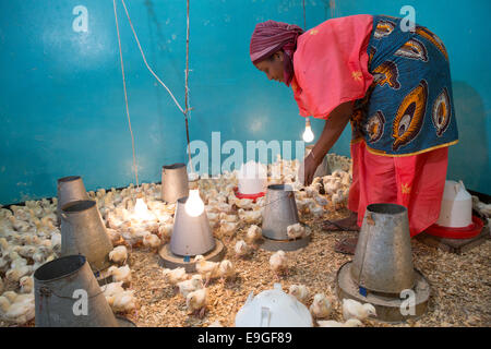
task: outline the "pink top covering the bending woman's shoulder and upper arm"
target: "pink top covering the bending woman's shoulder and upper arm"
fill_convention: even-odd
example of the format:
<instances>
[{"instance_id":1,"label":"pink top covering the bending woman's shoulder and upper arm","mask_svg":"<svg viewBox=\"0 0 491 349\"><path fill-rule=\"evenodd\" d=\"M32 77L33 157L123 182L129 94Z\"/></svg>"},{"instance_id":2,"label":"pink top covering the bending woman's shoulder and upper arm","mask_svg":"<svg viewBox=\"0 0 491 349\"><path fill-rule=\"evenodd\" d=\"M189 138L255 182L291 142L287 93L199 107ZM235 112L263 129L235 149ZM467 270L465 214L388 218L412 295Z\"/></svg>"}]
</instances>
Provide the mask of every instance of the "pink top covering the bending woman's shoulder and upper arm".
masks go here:
<instances>
[{"instance_id":1,"label":"pink top covering the bending woman's shoulder and upper arm","mask_svg":"<svg viewBox=\"0 0 491 349\"><path fill-rule=\"evenodd\" d=\"M302 117L327 119L343 103L364 97L373 82L367 47L373 16L328 20L300 35L291 88Z\"/></svg>"}]
</instances>

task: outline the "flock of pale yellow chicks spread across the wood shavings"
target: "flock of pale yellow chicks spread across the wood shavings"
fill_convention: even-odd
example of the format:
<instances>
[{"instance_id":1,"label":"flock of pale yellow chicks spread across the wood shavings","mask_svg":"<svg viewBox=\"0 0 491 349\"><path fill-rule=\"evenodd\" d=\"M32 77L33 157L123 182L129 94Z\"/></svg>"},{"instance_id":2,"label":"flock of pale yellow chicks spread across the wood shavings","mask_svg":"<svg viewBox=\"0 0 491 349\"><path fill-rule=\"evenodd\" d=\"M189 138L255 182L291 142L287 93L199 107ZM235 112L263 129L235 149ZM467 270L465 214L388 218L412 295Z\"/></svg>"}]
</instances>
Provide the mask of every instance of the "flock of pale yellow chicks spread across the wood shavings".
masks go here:
<instances>
[{"instance_id":1,"label":"flock of pale yellow chicks spread across the wood shavings","mask_svg":"<svg viewBox=\"0 0 491 349\"><path fill-rule=\"evenodd\" d=\"M346 203L351 181L350 160L334 154L328 155L332 174L315 178L309 186L296 182L298 160L279 159L268 165L268 184L286 183L297 189L295 193L300 217L320 218L325 209L336 209ZM205 203L214 236L224 242L241 233L233 251L237 257L248 257L262 239L261 222L265 197L256 201L237 198L237 172L225 172L218 179L202 177L200 193ZM137 207L137 194L145 198L146 207ZM128 265L132 249L146 248L156 252L169 242L176 204L160 200L160 185L154 183L135 188L130 184L122 190L99 189L88 192L96 201L98 210L107 227L107 233L115 249L109 258L115 264L108 274L112 282L101 286L113 312L137 311L139 304L131 289L131 268ZM34 318L34 272L43 264L57 258L61 250L61 233L57 218L57 198L51 201L27 201L25 206L0 207L0 321L25 324ZM309 233L300 224L288 227L288 238L298 239ZM183 268L164 269L163 276L175 287L176 293L185 299L190 313L204 315L207 305L206 286L216 278L223 281L233 279L237 270L231 261L205 261L195 256L196 274L188 275ZM284 251L271 255L270 265L278 276L288 274L288 261ZM308 299L306 286L295 285L289 292L300 302ZM331 313L331 301L318 293L310 305L312 316L319 326L358 326L369 315L375 315L370 304L355 301L343 303L346 323L326 318ZM219 324L215 324L219 325Z\"/></svg>"}]
</instances>

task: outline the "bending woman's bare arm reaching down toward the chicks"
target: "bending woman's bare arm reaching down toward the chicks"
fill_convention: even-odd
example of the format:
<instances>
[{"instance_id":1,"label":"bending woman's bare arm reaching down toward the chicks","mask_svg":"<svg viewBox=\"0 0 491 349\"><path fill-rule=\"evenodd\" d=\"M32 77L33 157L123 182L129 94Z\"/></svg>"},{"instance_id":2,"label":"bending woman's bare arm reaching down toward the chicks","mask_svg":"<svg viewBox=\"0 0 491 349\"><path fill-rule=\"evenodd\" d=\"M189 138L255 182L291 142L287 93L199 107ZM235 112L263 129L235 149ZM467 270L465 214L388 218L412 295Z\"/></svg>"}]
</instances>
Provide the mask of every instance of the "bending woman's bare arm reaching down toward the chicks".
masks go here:
<instances>
[{"instance_id":1,"label":"bending woman's bare arm reaching down toward the chicks","mask_svg":"<svg viewBox=\"0 0 491 349\"><path fill-rule=\"evenodd\" d=\"M322 159L337 142L343 130L345 130L346 124L352 115L352 105L354 101L347 101L339 105L331 112L330 118L325 121L324 130L322 131L318 143L315 143L312 152L310 152L303 160L304 185L310 185L310 183L312 183L313 174L322 163Z\"/></svg>"}]
</instances>

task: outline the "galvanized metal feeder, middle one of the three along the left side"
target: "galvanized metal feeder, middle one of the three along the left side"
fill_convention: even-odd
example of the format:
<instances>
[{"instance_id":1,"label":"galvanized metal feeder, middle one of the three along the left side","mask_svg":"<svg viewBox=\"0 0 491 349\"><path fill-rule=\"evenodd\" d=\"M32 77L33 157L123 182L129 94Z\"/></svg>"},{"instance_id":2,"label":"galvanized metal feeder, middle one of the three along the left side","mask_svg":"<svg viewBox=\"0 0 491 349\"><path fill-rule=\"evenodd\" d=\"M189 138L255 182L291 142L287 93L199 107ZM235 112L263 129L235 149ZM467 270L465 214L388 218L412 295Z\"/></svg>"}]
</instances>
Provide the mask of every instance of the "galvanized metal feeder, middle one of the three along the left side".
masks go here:
<instances>
[{"instance_id":1,"label":"galvanized metal feeder, middle one of the three along the left side","mask_svg":"<svg viewBox=\"0 0 491 349\"><path fill-rule=\"evenodd\" d=\"M75 201L61 207L61 256L82 254L94 272L100 272L110 266L111 250L95 201Z\"/></svg>"}]
</instances>

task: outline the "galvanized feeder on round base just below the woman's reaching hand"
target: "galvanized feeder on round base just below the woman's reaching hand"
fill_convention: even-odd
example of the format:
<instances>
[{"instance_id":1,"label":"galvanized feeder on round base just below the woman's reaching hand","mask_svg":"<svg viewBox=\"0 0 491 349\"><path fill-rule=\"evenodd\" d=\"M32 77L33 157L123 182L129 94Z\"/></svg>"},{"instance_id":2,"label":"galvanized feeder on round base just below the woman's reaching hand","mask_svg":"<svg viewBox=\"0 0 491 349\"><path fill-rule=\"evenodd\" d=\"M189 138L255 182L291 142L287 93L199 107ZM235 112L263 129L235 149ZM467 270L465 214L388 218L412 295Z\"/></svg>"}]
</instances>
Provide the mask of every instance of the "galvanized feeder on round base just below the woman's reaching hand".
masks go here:
<instances>
[{"instance_id":1,"label":"galvanized feeder on round base just below the woman's reaching hand","mask_svg":"<svg viewBox=\"0 0 491 349\"><path fill-rule=\"evenodd\" d=\"M288 184L272 184L267 186L263 212L263 242L261 248L267 251L295 251L304 248L310 236L289 240L288 226L300 222L298 218L295 193Z\"/></svg>"}]
</instances>

